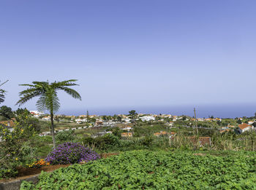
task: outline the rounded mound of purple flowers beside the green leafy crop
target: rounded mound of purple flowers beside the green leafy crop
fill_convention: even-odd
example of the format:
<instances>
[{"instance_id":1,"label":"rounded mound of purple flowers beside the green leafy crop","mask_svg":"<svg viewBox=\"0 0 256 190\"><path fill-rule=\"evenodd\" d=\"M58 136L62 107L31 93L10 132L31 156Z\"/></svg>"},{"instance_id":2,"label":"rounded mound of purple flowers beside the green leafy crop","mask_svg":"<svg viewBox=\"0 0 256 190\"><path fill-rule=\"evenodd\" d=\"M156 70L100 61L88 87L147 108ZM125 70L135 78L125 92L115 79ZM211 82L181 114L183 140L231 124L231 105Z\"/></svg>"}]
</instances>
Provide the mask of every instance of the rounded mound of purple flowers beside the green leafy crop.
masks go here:
<instances>
[{"instance_id":1,"label":"rounded mound of purple flowers beside the green leafy crop","mask_svg":"<svg viewBox=\"0 0 256 190\"><path fill-rule=\"evenodd\" d=\"M79 143L63 143L45 158L51 165L67 165L99 159L99 154Z\"/></svg>"}]
</instances>

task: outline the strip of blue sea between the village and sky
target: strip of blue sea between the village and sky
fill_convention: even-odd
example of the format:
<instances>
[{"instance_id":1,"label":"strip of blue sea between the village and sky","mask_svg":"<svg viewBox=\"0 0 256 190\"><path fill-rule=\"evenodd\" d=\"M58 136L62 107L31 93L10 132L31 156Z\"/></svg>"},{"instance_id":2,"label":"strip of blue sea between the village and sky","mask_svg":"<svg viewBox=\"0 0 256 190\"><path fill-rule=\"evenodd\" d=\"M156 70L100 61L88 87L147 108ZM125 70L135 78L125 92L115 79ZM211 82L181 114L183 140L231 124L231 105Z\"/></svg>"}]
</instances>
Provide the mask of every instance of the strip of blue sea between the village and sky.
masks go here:
<instances>
[{"instance_id":1,"label":"strip of blue sea between the village and sky","mask_svg":"<svg viewBox=\"0 0 256 190\"><path fill-rule=\"evenodd\" d=\"M255 116L256 103L241 104L214 104L214 105L195 105L195 106L120 106L104 108L70 108L59 111L57 114L82 115L89 111L89 114L114 115L129 114L130 110L135 110L140 114L172 114L194 116L194 108L197 117L208 118L210 116L219 118L236 118Z\"/></svg>"}]
</instances>

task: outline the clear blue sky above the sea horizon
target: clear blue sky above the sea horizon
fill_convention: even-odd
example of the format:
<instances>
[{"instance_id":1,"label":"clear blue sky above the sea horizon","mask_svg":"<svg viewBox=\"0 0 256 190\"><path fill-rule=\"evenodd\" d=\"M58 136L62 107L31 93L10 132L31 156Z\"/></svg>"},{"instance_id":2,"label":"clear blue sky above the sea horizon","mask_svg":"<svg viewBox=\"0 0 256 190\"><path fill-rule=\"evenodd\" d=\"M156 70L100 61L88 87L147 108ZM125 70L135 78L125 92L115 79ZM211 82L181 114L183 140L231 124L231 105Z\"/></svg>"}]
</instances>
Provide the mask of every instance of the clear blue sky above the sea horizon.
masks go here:
<instances>
[{"instance_id":1,"label":"clear blue sky above the sea horizon","mask_svg":"<svg viewBox=\"0 0 256 190\"><path fill-rule=\"evenodd\" d=\"M256 1L0 1L0 66L18 84L78 79L61 111L256 103ZM35 108L35 100L25 105ZM256 109L256 108L255 108ZM60 111L60 112L61 112Z\"/></svg>"}]
</instances>

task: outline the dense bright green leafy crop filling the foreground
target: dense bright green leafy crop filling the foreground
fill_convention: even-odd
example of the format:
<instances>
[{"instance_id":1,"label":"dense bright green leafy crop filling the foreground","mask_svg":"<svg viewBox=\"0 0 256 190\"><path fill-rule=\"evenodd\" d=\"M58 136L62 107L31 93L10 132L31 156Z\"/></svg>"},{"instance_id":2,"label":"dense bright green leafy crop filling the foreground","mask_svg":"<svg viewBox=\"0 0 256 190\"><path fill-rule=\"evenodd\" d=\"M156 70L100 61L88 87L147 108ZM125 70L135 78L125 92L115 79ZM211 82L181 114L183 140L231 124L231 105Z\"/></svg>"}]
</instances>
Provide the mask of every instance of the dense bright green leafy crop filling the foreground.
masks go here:
<instances>
[{"instance_id":1,"label":"dense bright green leafy crop filling the foreground","mask_svg":"<svg viewBox=\"0 0 256 190\"><path fill-rule=\"evenodd\" d=\"M192 152L127 151L42 173L20 189L255 189L255 153L217 157Z\"/></svg>"}]
</instances>

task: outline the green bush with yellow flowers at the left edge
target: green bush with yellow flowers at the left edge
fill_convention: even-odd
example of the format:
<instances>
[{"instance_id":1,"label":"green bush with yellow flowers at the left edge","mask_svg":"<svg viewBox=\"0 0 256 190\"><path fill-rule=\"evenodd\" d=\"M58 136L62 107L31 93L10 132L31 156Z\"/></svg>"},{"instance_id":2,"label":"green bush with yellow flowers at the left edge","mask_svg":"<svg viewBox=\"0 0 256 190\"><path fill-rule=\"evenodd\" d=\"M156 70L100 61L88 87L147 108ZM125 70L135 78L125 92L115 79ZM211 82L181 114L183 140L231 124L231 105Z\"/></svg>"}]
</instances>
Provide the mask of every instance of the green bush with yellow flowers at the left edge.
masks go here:
<instances>
[{"instance_id":1,"label":"green bush with yellow flowers at the left edge","mask_svg":"<svg viewBox=\"0 0 256 190\"><path fill-rule=\"evenodd\" d=\"M18 166L35 158L34 149L29 146L29 140L35 134L31 125L15 122L12 131L0 125L0 179L15 177Z\"/></svg>"}]
</instances>

